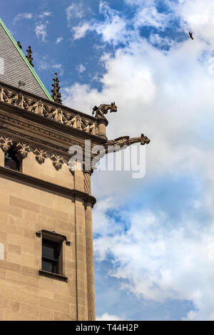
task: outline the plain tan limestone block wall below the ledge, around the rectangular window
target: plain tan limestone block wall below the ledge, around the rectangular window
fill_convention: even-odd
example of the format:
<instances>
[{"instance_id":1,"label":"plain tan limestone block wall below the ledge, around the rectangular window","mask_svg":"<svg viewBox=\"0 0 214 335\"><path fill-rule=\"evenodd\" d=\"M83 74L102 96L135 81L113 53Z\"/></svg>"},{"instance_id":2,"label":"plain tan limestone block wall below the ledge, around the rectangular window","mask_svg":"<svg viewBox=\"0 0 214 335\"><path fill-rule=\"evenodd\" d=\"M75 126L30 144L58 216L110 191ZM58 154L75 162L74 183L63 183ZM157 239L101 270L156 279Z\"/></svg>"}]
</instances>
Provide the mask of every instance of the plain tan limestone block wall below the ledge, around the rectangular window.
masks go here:
<instances>
[{"instance_id":1,"label":"plain tan limestone block wall below the ledge, around the rectangular window","mask_svg":"<svg viewBox=\"0 0 214 335\"><path fill-rule=\"evenodd\" d=\"M30 170L29 165L26 172ZM34 170L35 176L36 173L39 172ZM83 201L4 177L0 178L0 185L0 243L4 245L4 259L0 259L0 320L76 320L77 311L78 319L87 319ZM63 274L68 282L39 275L42 241L36 237L39 230L55 231L71 241L71 246L63 242Z\"/></svg>"}]
</instances>

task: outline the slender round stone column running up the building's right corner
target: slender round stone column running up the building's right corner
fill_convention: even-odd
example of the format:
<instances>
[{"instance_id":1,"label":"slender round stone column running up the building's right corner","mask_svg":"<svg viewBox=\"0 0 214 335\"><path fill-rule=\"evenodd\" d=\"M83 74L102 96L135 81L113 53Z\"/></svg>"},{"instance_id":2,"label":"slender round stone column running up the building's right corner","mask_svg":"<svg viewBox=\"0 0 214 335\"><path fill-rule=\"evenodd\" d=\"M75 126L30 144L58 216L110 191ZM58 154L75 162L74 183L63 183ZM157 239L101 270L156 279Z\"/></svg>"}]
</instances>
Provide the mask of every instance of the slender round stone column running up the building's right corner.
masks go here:
<instances>
[{"instance_id":1,"label":"slender round stone column running up the building's right corner","mask_svg":"<svg viewBox=\"0 0 214 335\"><path fill-rule=\"evenodd\" d=\"M84 172L84 191L91 195L91 172ZM96 320L94 269L93 269L93 228L91 202L86 202L86 262L87 262L87 292L88 321Z\"/></svg>"}]
</instances>

